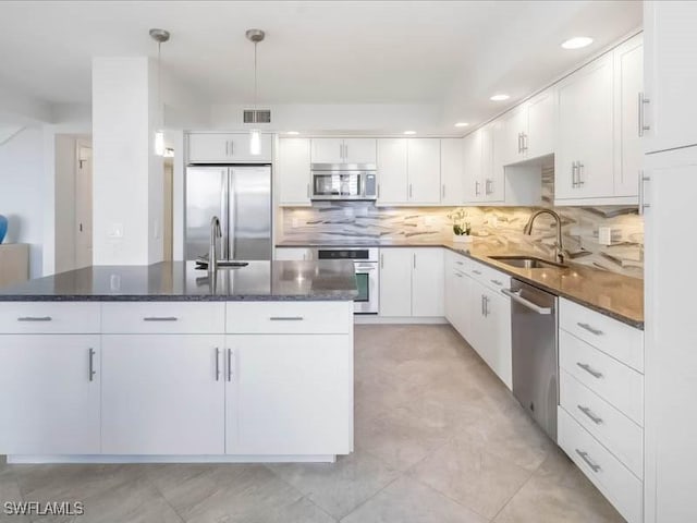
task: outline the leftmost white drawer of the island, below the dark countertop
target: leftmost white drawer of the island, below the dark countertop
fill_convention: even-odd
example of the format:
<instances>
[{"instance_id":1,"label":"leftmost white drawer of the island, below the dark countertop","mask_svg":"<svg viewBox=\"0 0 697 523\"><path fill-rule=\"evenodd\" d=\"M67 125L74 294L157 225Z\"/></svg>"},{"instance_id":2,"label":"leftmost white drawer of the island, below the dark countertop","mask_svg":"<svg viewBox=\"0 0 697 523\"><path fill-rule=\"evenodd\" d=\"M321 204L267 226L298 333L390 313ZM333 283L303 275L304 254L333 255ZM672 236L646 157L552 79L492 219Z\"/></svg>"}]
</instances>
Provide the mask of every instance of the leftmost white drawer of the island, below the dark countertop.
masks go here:
<instances>
[{"instance_id":1,"label":"leftmost white drawer of the island, below the dark countertop","mask_svg":"<svg viewBox=\"0 0 697 523\"><path fill-rule=\"evenodd\" d=\"M99 303L3 302L0 332L4 335L60 335L99 332Z\"/></svg>"}]
</instances>

